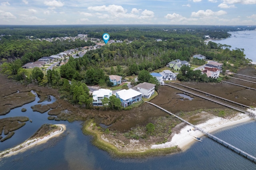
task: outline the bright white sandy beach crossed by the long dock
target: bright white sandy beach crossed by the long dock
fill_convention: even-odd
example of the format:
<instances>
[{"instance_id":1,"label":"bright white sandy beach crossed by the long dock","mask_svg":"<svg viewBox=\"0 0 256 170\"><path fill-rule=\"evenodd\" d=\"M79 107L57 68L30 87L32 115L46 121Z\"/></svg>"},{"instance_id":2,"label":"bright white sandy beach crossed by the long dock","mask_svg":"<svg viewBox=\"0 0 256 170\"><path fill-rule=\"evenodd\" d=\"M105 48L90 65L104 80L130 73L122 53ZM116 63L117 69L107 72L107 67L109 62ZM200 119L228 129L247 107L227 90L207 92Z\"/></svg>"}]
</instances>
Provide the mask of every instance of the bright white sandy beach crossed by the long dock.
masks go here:
<instances>
[{"instance_id":1,"label":"bright white sandy beach crossed by the long dock","mask_svg":"<svg viewBox=\"0 0 256 170\"><path fill-rule=\"evenodd\" d=\"M238 115L236 115L236 117L233 117L231 119L214 117L213 119L210 119L205 123L196 125L196 127L199 127L206 132L212 133L225 127L232 127L234 125L239 125L252 120L255 119L250 118L246 114L239 113ZM193 136L204 138L204 134L201 131L194 130L194 127L187 125L186 127L182 128L178 134L175 134L170 142L166 142L164 144L153 144L151 148L168 148L172 146L178 146L182 151L184 151L188 149L194 142L198 142L194 140Z\"/></svg>"}]
</instances>

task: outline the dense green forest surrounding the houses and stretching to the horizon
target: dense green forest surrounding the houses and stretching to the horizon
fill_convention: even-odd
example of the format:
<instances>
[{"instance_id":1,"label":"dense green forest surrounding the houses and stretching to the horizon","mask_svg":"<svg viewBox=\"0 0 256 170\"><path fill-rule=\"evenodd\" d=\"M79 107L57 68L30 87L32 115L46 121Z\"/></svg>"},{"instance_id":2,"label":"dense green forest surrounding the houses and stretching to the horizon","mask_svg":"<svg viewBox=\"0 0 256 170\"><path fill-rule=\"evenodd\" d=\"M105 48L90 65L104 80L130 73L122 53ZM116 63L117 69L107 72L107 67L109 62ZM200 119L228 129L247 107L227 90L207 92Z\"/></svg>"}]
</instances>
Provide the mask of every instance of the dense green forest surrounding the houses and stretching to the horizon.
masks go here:
<instances>
[{"instance_id":1,"label":"dense green forest surrounding the houses and stretching to the horizon","mask_svg":"<svg viewBox=\"0 0 256 170\"><path fill-rule=\"evenodd\" d=\"M90 107L86 85L104 84L111 86L107 75L138 75L139 81L156 83L150 71L164 67L174 59L190 61L194 54L202 54L207 59L224 63L224 69L236 71L247 65L244 49L230 50L229 45L204 42L204 35L212 38L227 38L228 31L237 30L231 26L0 26L1 72L22 83L37 83L60 89L62 97L74 104ZM240 29L255 29L240 27ZM95 45L90 38L100 38L104 32L110 39L122 40L98 49L87 51L83 57L69 61L60 71L33 70L30 77L22 65L43 56L50 56L72 48ZM87 34L88 40L48 42L39 38L56 38ZM31 37L32 36L32 37ZM156 41L161 39L161 41ZM198 61L190 61L198 62ZM110 69L106 69L110 68ZM186 74L189 73L189 74ZM181 81L204 81L205 76L183 67L178 78ZM71 85L68 83L72 81ZM132 80L133 84L134 80ZM79 91L79 92L78 92ZM84 97L79 99L78 93ZM114 108L114 107L113 107Z\"/></svg>"}]
</instances>

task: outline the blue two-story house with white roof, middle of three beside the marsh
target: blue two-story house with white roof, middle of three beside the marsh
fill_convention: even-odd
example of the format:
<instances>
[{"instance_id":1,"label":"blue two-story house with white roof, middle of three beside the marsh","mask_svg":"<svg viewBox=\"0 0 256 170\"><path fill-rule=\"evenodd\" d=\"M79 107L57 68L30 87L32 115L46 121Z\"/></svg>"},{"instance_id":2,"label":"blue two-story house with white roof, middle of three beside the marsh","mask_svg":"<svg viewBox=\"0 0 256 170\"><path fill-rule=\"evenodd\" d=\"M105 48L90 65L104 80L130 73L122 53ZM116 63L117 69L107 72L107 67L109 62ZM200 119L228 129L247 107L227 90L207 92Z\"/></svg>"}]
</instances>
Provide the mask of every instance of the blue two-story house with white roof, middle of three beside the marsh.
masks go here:
<instances>
[{"instance_id":1,"label":"blue two-story house with white roof, middle of three beside the marsh","mask_svg":"<svg viewBox=\"0 0 256 170\"><path fill-rule=\"evenodd\" d=\"M142 93L133 89L123 89L116 92L116 98L120 99L123 107L128 107L133 103L140 102L142 100Z\"/></svg>"}]
</instances>

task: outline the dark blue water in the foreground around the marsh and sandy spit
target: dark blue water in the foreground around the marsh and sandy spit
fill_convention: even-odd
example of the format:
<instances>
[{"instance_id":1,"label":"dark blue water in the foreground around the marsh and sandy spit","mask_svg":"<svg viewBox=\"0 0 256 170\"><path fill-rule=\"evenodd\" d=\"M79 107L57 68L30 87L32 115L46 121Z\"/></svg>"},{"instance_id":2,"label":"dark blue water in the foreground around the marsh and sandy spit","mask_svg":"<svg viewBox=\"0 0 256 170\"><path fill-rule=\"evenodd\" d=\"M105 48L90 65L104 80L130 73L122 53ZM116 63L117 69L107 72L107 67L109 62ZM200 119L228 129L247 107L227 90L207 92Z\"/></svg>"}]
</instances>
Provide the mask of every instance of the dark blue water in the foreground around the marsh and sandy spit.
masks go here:
<instances>
[{"instance_id":1,"label":"dark blue water in the foreground around the marsh and sandy spit","mask_svg":"<svg viewBox=\"0 0 256 170\"><path fill-rule=\"evenodd\" d=\"M49 121L47 113L33 112L30 106L38 104L38 100L36 98L36 101L13 109L6 116L0 116L1 119L7 116L24 115L32 119L32 123L27 122L24 127L16 130L12 138L1 142L0 150L24 142L44 123L62 123L66 125L67 130L61 136L52 138L46 143L34 146L22 153L0 159L0 170L256 169L255 163L205 136L203 137L203 142L195 142L191 148L178 154L147 159L111 158L107 152L99 150L91 144L91 136L82 134L82 122ZM54 100L52 98L52 101ZM46 103L48 102L46 101ZM25 113L20 111L23 107L27 109ZM251 121L250 123L230 127L214 135L255 156L255 129L256 121Z\"/></svg>"}]
</instances>

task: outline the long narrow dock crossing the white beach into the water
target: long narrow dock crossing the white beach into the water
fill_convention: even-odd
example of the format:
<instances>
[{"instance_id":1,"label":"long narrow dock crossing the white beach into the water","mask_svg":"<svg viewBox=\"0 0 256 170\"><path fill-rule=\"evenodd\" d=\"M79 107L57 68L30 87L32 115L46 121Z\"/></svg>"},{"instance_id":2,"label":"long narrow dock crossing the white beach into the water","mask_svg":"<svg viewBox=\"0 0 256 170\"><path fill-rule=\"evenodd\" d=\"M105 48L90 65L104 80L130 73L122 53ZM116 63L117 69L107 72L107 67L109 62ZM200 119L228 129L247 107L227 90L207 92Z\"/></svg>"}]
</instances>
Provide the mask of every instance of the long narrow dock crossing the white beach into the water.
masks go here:
<instances>
[{"instance_id":1,"label":"long narrow dock crossing the white beach into the water","mask_svg":"<svg viewBox=\"0 0 256 170\"><path fill-rule=\"evenodd\" d=\"M234 151L234 152L236 152L236 153L238 153L238 154L244 156L244 157L247 158L248 160L251 160L252 162L256 163L256 157L254 157L254 156L252 156L252 155L250 155L250 154L244 152L243 150L241 150L241 149L239 149L239 148L233 146L232 144L229 144L228 142L225 142L224 140L221 140L220 138L218 138L218 137L216 137L216 136L214 136L214 135L212 135L212 134L210 134L210 133L204 131L203 129L201 129L201 128L199 128L199 127L196 127L195 125L189 123L188 121L185 121L185 120L182 119L181 117L178 117L178 116L174 115L173 113L167 111L166 109L164 109L164 108L162 108L162 107L160 107L160 106L158 106L158 105L156 105L156 104L154 104L154 103L150 103L150 102L148 102L148 101L146 101L146 103L149 103L150 105L154 105L155 107L158 107L159 109L165 111L166 113L168 113L168 114L170 114L170 115L173 115L174 117L180 119L181 121L187 123L188 125L191 125L192 127L196 128L197 130L200 130L203 134L205 134L206 136L208 136L210 139L212 139L212 140L214 140L214 141L216 141L216 142L222 144L223 146L226 146L226 147L229 148L230 150L232 150L232 151Z\"/></svg>"}]
</instances>

